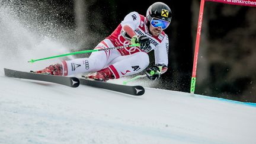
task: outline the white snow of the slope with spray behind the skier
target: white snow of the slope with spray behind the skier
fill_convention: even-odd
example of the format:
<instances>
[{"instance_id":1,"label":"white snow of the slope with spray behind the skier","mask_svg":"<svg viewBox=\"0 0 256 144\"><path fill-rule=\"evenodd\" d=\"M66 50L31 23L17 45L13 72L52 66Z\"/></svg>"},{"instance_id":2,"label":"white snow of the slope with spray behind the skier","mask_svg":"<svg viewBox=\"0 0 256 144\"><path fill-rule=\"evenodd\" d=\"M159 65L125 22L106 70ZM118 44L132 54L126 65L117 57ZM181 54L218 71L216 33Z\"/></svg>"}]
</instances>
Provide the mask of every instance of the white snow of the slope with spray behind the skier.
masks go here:
<instances>
[{"instance_id":1,"label":"white snow of the slope with spray behind the skier","mask_svg":"<svg viewBox=\"0 0 256 144\"><path fill-rule=\"evenodd\" d=\"M0 18L0 143L256 143L256 104L153 89L142 80L132 83L146 90L136 97L8 78L4 68L41 69L59 59L27 61L69 50L1 9Z\"/></svg>"}]
</instances>

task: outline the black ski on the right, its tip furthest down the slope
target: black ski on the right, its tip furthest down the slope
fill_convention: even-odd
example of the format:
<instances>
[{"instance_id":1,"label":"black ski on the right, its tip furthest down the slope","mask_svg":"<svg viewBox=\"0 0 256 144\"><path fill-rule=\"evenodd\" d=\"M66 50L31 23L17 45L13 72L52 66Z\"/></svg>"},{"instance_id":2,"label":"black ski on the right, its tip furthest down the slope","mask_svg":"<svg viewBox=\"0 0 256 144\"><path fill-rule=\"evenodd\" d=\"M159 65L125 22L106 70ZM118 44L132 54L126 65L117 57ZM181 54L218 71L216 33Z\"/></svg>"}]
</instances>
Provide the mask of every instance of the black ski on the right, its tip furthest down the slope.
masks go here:
<instances>
[{"instance_id":1,"label":"black ski on the right, its tip furthest down the slope","mask_svg":"<svg viewBox=\"0 0 256 144\"><path fill-rule=\"evenodd\" d=\"M85 78L79 78L79 81L81 85L88 85L91 87L108 89L111 91L117 91L124 94L143 95L145 93L145 89L140 85L135 85L135 86L119 85L119 84L113 84L110 82L101 82L101 81L95 81L95 80L90 80Z\"/></svg>"}]
</instances>

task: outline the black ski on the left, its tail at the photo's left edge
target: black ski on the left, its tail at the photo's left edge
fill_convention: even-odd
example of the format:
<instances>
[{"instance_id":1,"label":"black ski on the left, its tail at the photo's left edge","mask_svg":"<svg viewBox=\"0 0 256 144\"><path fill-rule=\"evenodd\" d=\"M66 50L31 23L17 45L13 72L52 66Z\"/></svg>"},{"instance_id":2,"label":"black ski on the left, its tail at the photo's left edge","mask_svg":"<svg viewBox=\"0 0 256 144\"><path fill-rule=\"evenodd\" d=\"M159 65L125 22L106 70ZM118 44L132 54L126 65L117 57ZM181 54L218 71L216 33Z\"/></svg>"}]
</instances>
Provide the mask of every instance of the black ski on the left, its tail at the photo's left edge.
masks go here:
<instances>
[{"instance_id":1,"label":"black ski on the left, its tail at the photo's left edge","mask_svg":"<svg viewBox=\"0 0 256 144\"><path fill-rule=\"evenodd\" d=\"M66 85L68 87L76 88L79 86L79 79L76 77L44 75L33 72L15 71L13 69L4 68L5 76L12 78L31 79L37 81L53 82L55 84Z\"/></svg>"}]
</instances>

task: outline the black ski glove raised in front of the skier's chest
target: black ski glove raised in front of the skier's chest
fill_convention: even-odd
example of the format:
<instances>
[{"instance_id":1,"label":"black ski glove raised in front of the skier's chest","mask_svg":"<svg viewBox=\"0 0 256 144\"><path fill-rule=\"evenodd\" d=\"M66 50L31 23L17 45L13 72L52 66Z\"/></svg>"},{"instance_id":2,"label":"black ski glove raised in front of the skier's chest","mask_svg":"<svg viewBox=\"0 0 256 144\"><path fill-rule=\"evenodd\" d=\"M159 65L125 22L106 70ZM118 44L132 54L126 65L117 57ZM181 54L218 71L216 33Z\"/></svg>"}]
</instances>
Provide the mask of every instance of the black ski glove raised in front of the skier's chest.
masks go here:
<instances>
[{"instance_id":1,"label":"black ski glove raised in front of the skier's chest","mask_svg":"<svg viewBox=\"0 0 256 144\"><path fill-rule=\"evenodd\" d=\"M151 50L150 46L150 39L149 37L142 35L137 37L136 35L132 37L131 44L140 44L140 49L143 50L143 52L148 53Z\"/></svg>"}]
</instances>

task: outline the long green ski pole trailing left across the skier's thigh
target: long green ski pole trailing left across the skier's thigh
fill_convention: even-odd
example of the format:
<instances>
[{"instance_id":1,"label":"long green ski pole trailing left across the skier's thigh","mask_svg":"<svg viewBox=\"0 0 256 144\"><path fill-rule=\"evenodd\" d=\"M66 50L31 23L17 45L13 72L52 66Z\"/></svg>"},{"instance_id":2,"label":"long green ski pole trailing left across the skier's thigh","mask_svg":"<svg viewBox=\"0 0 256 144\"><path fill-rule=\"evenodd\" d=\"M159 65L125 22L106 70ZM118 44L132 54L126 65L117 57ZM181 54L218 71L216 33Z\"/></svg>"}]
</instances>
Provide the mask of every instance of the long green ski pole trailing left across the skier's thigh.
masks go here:
<instances>
[{"instance_id":1,"label":"long green ski pole trailing left across the skier's thigh","mask_svg":"<svg viewBox=\"0 0 256 144\"><path fill-rule=\"evenodd\" d=\"M131 44L129 46L110 47L110 48L107 48L107 49L82 50L82 51L73 52L73 53L66 53L66 54L63 54L63 55L44 57L44 58L41 58L41 59L31 59L28 62L34 63L34 62L39 61L39 60L53 59L53 58L56 58L56 57L63 57L63 56L69 56L69 55L77 55L77 54L81 54L81 53L100 52L100 51L111 50L111 49L123 49L125 47L134 47L134 46L140 46L140 44L137 43L137 44Z\"/></svg>"}]
</instances>

